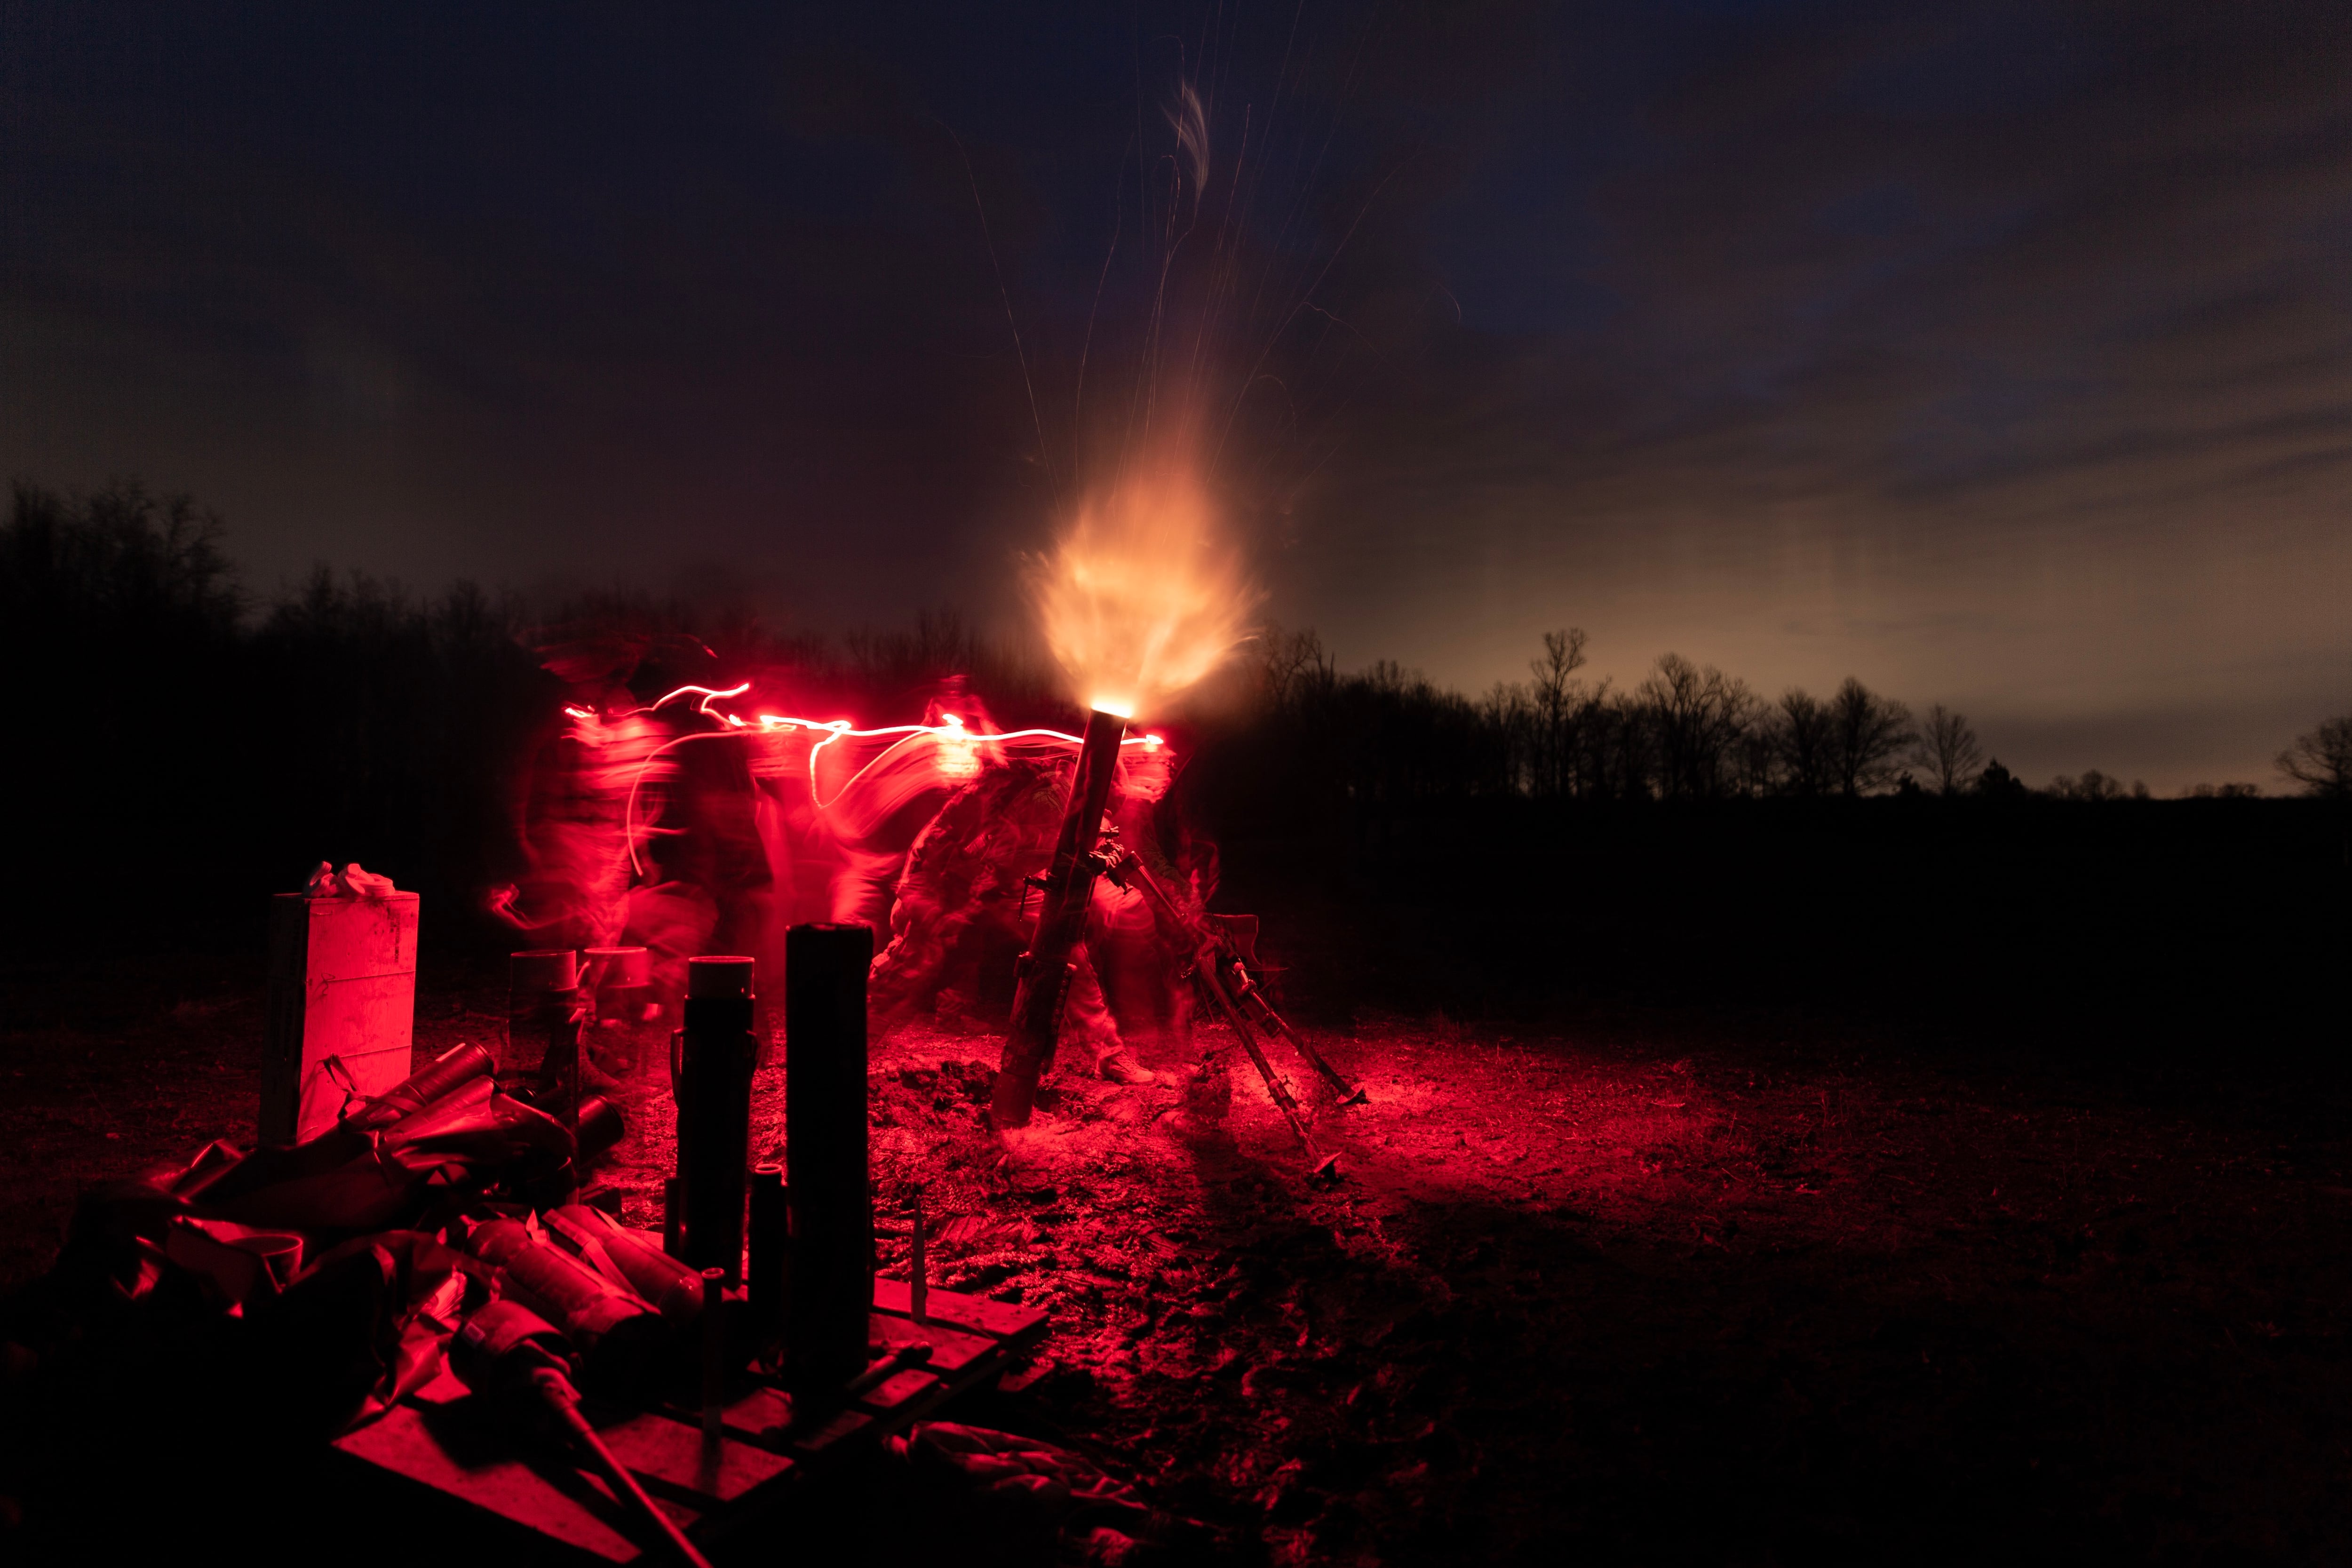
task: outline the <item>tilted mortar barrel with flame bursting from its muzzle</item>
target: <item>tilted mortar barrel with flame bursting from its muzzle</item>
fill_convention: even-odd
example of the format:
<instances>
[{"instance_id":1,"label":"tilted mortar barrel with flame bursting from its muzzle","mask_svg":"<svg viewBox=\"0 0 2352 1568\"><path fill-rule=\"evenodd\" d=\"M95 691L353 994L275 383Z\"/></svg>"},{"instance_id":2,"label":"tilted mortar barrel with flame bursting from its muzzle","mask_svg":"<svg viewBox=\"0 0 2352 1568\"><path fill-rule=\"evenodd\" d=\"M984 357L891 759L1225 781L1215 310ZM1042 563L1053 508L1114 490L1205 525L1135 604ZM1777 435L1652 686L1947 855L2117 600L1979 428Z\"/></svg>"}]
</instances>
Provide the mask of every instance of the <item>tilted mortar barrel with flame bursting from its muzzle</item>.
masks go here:
<instances>
[{"instance_id":1,"label":"tilted mortar barrel with flame bursting from its muzzle","mask_svg":"<svg viewBox=\"0 0 2352 1568\"><path fill-rule=\"evenodd\" d=\"M1110 804L1124 733L1127 719L1115 712L1096 708L1087 717L1077 773L1070 778L1070 806L1063 811L1061 837L1044 875L1044 898L1037 903L1037 936L1030 938L1030 950L1021 954L1016 971L1014 1020L1004 1034L1004 1060L997 1067L990 1107L997 1126L1028 1126L1037 1105L1037 1074L1054 1058L1061 1004L1070 992L1070 954L1087 936L1094 879L1103 867L1094 842L1101 837L1103 806Z\"/></svg>"}]
</instances>

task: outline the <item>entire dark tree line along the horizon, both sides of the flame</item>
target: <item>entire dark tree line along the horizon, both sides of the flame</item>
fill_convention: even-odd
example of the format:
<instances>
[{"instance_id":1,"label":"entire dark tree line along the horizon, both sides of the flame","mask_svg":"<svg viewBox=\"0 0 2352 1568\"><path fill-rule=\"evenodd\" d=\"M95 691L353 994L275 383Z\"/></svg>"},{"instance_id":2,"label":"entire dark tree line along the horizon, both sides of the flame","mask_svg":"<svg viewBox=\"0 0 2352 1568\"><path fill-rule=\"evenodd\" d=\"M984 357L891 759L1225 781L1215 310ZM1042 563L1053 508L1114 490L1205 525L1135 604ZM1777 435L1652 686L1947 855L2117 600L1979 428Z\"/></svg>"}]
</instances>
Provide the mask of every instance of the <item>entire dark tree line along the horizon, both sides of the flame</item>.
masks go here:
<instances>
[{"instance_id":1,"label":"entire dark tree line along the horizon, both sides of the flame","mask_svg":"<svg viewBox=\"0 0 2352 1568\"><path fill-rule=\"evenodd\" d=\"M953 611L823 639L635 592L534 604L459 583L416 597L325 567L256 602L221 552L219 517L183 496L16 484L0 527L0 656L21 712L12 863L35 893L12 900L9 924L49 929L101 905L111 919L249 910L322 856L470 907L513 875L517 769L562 722L548 665L614 646L647 696L767 668L868 722L917 717L946 679L1007 726L1068 719L1035 649ZM1675 654L1618 686L1585 675L1585 646L1578 630L1548 632L1526 679L1470 698L1390 661L1341 672L1312 630L1270 628L1204 693L1188 792L1211 830L1475 799L2030 792L1945 705L1915 717L1858 679L1766 698ZM2352 799L2352 717L2296 738L2279 769ZM2091 771L2049 792L2124 788Z\"/></svg>"}]
</instances>

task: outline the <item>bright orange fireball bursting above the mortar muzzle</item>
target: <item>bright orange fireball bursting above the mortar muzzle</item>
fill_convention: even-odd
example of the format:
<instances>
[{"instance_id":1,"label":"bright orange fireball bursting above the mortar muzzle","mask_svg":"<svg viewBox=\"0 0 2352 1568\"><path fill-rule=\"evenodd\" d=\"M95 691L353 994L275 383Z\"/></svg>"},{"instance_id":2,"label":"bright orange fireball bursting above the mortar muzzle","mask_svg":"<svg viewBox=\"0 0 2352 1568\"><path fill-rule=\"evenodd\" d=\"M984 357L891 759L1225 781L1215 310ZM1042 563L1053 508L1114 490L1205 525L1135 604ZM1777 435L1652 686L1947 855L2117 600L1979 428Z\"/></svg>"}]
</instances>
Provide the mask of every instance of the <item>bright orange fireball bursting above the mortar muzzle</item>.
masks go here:
<instances>
[{"instance_id":1,"label":"bright orange fireball bursting above the mortar muzzle","mask_svg":"<svg viewBox=\"0 0 2352 1568\"><path fill-rule=\"evenodd\" d=\"M1077 696L1127 717L1223 663L1258 604L1207 491L1169 470L1089 496L1030 588Z\"/></svg>"}]
</instances>

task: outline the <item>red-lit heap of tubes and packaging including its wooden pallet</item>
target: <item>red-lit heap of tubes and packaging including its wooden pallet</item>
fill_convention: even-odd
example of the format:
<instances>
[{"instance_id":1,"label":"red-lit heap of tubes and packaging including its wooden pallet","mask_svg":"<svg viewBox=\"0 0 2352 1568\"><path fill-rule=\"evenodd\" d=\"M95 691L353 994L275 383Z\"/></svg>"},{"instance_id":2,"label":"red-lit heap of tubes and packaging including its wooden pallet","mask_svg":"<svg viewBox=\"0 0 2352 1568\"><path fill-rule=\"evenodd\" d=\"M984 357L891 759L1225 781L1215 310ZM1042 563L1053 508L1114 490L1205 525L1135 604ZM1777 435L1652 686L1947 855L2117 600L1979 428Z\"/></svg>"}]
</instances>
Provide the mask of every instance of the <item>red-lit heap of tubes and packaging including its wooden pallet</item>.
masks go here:
<instances>
[{"instance_id":1,"label":"red-lit heap of tubes and packaging including its wooden pallet","mask_svg":"<svg viewBox=\"0 0 2352 1568\"><path fill-rule=\"evenodd\" d=\"M790 1192L783 1171L748 1171L753 961L691 966L680 1124L696 1262L595 1208L609 1192L593 1182L572 1199L614 1112L576 1100L579 1138L548 1114L576 1084L586 1004L572 954L548 950L515 964L503 1065L461 1044L376 1095L339 1095L308 1140L216 1143L87 1194L59 1274L99 1274L56 1300L111 1302L92 1333L141 1312L179 1314L179 1331L191 1312L242 1319L240 1401L320 1413L303 1441L332 1460L306 1507L374 1521L369 1559L452 1542L482 1561L774 1549L811 1486L837 1495L884 1443L922 1441L1047 1328L953 1291L917 1305L873 1274L870 952L866 926L790 931Z\"/></svg>"}]
</instances>

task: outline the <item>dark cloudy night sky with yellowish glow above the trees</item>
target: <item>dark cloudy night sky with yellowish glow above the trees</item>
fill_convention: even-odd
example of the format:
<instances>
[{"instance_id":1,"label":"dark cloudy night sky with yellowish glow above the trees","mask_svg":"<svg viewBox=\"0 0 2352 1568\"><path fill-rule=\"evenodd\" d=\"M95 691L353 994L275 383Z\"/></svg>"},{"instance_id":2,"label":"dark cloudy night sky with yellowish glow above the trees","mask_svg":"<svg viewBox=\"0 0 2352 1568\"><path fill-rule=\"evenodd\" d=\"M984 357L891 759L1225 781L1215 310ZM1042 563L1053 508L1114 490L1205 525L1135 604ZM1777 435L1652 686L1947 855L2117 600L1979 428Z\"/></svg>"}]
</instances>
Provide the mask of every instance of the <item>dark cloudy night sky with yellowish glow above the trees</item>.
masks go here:
<instances>
[{"instance_id":1,"label":"dark cloudy night sky with yellowish glow above the trees","mask_svg":"<svg viewBox=\"0 0 2352 1568\"><path fill-rule=\"evenodd\" d=\"M2347 66L2340 2L0 2L0 470L263 592L1007 616L1160 301L1343 665L1583 625L2274 788L2352 708Z\"/></svg>"}]
</instances>

